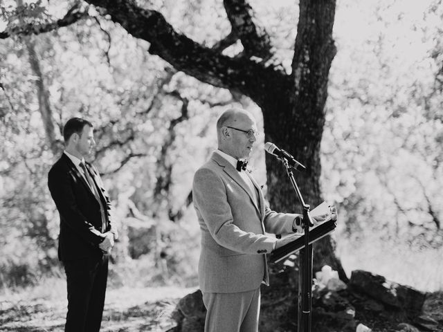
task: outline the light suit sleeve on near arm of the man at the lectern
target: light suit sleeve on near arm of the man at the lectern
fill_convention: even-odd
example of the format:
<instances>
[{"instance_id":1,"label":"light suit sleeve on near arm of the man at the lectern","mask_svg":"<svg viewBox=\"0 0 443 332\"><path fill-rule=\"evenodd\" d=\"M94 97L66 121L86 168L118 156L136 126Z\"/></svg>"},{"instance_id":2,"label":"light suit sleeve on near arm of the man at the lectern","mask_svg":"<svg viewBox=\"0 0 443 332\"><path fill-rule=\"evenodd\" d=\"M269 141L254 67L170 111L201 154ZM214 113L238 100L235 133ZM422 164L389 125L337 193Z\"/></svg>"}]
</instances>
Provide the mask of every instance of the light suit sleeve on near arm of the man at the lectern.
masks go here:
<instances>
[{"instance_id":1,"label":"light suit sleeve on near arm of the man at the lectern","mask_svg":"<svg viewBox=\"0 0 443 332\"><path fill-rule=\"evenodd\" d=\"M194 176L192 197L213 239L220 245L245 254L273 250L274 237L245 232L233 224L224 182L210 169L199 169Z\"/></svg>"}]
</instances>

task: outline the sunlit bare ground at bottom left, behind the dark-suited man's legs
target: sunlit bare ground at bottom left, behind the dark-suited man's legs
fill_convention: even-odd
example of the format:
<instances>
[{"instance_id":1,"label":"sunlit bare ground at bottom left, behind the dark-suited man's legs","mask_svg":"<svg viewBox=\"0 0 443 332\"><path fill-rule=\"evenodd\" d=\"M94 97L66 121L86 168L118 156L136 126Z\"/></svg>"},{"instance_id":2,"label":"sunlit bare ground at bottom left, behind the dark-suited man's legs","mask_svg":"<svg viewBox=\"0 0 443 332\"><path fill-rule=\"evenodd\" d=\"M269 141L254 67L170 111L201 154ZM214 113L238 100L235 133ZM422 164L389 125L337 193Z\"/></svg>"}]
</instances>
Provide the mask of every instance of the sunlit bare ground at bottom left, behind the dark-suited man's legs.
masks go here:
<instances>
[{"instance_id":1,"label":"sunlit bare ground at bottom left, behind the dark-suited man's legs","mask_svg":"<svg viewBox=\"0 0 443 332\"><path fill-rule=\"evenodd\" d=\"M107 293L102 332L166 331L170 313L194 288L118 288ZM62 332L66 315L63 291L45 297L26 292L0 297L0 331Z\"/></svg>"}]
</instances>

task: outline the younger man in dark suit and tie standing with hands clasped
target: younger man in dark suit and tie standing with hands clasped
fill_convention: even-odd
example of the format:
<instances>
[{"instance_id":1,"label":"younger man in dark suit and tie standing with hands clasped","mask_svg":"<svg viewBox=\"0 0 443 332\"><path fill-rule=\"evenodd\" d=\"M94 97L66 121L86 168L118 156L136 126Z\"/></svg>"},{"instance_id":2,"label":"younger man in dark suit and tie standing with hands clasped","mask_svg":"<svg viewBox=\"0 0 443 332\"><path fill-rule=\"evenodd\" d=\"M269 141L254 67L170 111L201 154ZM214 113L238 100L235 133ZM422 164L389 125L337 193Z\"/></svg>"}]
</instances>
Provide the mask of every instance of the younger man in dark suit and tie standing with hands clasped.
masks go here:
<instances>
[{"instance_id":1,"label":"younger man in dark suit and tie standing with hands clasped","mask_svg":"<svg viewBox=\"0 0 443 332\"><path fill-rule=\"evenodd\" d=\"M98 332L102 322L108 257L117 232L100 175L84 161L95 145L93 125L71 118L63 129L66 149L48 174L60 213L58 255L68 291L65 331Z\"/></svg>"}]
</instances>

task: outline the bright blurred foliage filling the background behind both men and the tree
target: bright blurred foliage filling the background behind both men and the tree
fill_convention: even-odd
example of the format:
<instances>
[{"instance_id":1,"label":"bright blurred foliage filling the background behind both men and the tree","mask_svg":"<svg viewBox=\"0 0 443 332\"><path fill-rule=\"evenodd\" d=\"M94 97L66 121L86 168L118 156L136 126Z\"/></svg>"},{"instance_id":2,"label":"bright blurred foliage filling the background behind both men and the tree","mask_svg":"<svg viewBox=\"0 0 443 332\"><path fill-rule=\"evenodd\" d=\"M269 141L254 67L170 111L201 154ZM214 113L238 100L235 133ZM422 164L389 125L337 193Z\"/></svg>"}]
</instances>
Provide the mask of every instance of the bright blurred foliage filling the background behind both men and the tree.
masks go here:
<instances>
[{"instance_id":1,"label":"bright blurred foliage filling the background behind both men and the tree","mask_svg":"<svg viewBox=\"0 0 443 332\"><path fill-rule=\"evenodd\" d=\"M149 2L172 26L204 44L221 39L228 25L220 1ZM339 206L336 239L338 253L350 262L347 269L366 266L377 272L365 260L383 258L383 251L370 255L380 243L422 250L429 257L443 243L443 6L440 1L404 3L338 1L336 10L338 53L329 80L321 182L325 198ZM13 31L19 13L33 21L45 19L46 12L57 17L53 1L46 5L4 6L7 29ZM252 6L278 45L276 56L290 59L297 6L267 1ZM224 107L256 107L176 73L147 53L147 43L89 12L91 17L78 24L31 37L50 93L57 140L71 116L96 124L98 147L92 159L103 173L124 234L113 268L116 284L195 284L198 225L185 203L192 174L215 147L213 123ZM226 52L236 54L239 48ZM58 216L46 189L46 174L57 155L46 142L38 77L24 43L2 39L0 59L0 266L1 283L13 286L60 273L54 268ZM287 60L282 66L291 70ZM188 113L181 118L183 105ZM256 153L264 174L263 153ZM157 190L158 183L163 185ZM179 211L184 216L170 221ZM131 234L140 229L131 223L134 219L143 225L147 242L137 255L130 250ZM356 248L365 248L357 259L350 255ZM398 252L392 260L401 259L402 250L392 250Z\"/></svg>"}]
</instances>

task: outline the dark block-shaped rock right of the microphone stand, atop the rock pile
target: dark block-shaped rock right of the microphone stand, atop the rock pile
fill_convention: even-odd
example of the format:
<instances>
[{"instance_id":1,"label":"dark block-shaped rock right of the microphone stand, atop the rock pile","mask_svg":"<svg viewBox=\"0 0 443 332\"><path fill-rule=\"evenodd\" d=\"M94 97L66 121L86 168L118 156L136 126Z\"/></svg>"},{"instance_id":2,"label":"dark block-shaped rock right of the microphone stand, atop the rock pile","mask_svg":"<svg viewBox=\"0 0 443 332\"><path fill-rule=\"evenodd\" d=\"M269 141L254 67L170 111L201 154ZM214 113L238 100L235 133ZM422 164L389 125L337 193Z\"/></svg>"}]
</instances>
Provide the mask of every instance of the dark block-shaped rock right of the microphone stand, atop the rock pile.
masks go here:
<instances>
[{"instance_id":1,"label":"dark block-shaped rock right of the microphone stand, atop the rock pile","mask_svg":"<svg viewBox=\"0 0 443 332\"><path fill-rule=\"evenodd\" d=\"M352 271L350 287L370 295L374 299L406 311L410 317L419 315L426 295L415 288L386 280L363 270Z\"/></svg>"}]
</instances>

